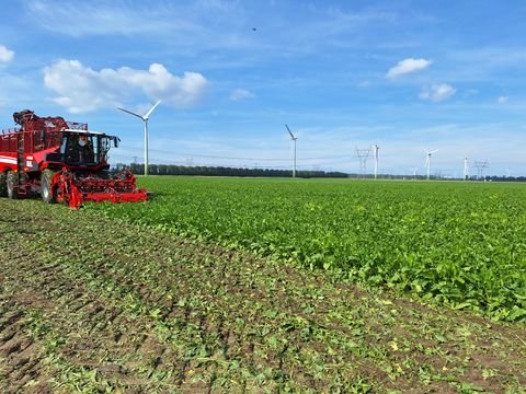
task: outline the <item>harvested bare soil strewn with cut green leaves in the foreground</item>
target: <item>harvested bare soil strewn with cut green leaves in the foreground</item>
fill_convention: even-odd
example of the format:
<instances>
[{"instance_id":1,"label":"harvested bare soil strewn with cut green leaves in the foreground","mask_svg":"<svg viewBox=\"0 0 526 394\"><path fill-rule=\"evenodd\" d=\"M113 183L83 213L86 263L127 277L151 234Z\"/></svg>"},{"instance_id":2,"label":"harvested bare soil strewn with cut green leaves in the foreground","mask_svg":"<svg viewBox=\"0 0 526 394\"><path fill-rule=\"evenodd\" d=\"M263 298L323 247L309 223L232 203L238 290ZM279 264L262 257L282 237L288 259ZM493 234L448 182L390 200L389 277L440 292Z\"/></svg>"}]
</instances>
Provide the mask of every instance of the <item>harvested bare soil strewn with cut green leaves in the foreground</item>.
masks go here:
<instances>
[{"instance_id":1,"label":"harvested bare soil strewn with cut green leaves in the foreground","mask_svg":"<svg viewBox=\"0 0 526 394\"><path fill-rule=\"evenodd\" d=\"M0 199L0 392L526 390L526 328Z\"/></svg>"}]
</instances>

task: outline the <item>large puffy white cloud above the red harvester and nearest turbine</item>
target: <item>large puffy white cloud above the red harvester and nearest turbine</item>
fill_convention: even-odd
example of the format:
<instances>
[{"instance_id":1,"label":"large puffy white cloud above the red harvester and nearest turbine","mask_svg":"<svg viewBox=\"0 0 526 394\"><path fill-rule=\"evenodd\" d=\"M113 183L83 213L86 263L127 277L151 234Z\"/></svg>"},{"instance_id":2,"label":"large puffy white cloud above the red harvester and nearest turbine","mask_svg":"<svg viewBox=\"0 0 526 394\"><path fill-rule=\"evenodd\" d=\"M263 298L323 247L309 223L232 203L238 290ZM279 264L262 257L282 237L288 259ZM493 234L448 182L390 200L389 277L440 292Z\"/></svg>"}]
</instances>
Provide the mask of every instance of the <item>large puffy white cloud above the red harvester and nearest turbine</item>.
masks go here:
<instances>
[{"instance_id":1,"label":"large puffy white cloud above the red harvester and nearest turbine","mask_svg":"<svg viewBox=\"0 0 526 394\"><path fill-rule=\"evenodd\" d=\"M44 69L44 83L58 94L54 101L71 113L115 106L138 92L185 108L197 104L208 85L201 73L176 77L160 63L152 63L148 70L121 67L96 71L78 60L65 59Z\"/></svg>"}]
</instances>

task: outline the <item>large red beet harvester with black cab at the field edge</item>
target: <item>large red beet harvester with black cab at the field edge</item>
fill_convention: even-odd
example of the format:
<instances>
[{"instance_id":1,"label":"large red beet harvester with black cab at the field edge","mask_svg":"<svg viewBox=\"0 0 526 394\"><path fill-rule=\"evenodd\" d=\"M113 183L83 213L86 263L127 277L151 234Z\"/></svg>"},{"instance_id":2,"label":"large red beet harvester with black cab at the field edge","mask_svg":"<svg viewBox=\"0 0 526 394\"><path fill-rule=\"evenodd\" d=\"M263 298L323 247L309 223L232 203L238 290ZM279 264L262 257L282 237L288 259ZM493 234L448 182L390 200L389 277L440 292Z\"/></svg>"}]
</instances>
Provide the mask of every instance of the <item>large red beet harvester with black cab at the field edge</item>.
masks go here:
<instances>
[{"instance_id":1,"label":"large red beet harvester with black cab at the field edge","mask_svg":"<svg viewBox=\"0 0 526 394\"><path fill-rule=\"evenodd\" d=\"M110 173L107 152L117 147L117 137L28 109L13 118L20 127L0 135L0 196L39 194L45 202L65 202L73 209L83 201L148 199L129 170Z\"/></svg>"}]
</instances>

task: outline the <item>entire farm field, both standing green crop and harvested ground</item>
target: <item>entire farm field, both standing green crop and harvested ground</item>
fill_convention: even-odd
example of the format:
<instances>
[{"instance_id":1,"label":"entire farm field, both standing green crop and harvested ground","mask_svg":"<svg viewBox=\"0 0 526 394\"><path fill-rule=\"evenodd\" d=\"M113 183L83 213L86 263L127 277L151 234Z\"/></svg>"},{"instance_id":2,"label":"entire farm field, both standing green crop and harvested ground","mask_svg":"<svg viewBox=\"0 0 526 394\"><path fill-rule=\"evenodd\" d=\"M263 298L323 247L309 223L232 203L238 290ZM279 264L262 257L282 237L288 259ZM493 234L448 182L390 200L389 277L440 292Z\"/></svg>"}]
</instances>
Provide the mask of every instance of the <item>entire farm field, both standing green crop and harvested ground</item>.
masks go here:
<instances>
[{"instance_id":1,"label":"entire farm field, both standing green crop and harvested ground","mask_svg":"<svg viewBox=\"0 0 526 394\"><path fill-rule=\"evenodd\" d=\"M1 393L526 393L521 184L0 198Z\"/></svg>"}]
</instances>

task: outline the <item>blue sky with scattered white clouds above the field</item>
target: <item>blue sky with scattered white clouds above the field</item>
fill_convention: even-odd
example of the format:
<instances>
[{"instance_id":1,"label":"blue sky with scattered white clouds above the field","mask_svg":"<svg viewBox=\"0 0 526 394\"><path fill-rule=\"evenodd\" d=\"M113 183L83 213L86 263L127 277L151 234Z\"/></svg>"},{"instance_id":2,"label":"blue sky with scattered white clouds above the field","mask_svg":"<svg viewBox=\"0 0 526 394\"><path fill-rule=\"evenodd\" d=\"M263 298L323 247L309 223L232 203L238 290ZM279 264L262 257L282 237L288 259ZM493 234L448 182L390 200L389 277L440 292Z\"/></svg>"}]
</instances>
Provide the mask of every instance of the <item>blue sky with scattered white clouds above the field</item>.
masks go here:
<instances>
[{"instance_id":1,"label":"blue sky with scattered white clouds above the field","mask_svg":"<svg viewBox=\"0 0 526 394\"><path fill-rule=\"evenodd\" d=\"M112 162L525 175L526 2L4 0L0 125L62 115ZM255 28L255 30L254 30ZM373 169L373 160L367 163Z\"/></svg>"}]
</instances>

